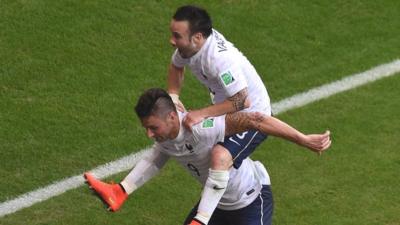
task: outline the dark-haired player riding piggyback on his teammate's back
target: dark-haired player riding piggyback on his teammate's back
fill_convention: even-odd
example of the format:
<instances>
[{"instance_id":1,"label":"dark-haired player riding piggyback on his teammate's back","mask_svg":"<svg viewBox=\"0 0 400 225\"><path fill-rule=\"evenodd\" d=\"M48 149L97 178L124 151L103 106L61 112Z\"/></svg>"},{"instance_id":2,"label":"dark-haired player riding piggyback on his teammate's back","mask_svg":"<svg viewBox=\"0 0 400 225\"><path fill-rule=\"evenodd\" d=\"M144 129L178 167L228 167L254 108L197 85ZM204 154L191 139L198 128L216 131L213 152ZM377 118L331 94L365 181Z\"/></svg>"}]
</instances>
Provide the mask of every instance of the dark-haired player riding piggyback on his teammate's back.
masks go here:
<instances>
[{"instance_id":1,"label":"dark-haired player riding piggyback on his teammate's back","mask_svg":"<svg viewBox=\"0 0 400 225\"><path fill-rule=\"evenodd\" d=\"M205 118L238 111L271 116L269 95L257 71L231 42L213 29L206 10L192 5L178 8L172 17L170 30L170 43L176 50L168 70L168 93L174 103L184 109L179 93L185 67L190 68L213 96L212 105L185 115L183 121L188 129ZM329 132L324 135L329 136ZM224 162L228 162L229 157L233 157L233 166L239 168L242 160L266 138L265 133L257 130L227 136L214 147L212 158L227 156ZM228 164L216 159L212 160L212 169L228 169Z\"/></svg>"}]
</instances>

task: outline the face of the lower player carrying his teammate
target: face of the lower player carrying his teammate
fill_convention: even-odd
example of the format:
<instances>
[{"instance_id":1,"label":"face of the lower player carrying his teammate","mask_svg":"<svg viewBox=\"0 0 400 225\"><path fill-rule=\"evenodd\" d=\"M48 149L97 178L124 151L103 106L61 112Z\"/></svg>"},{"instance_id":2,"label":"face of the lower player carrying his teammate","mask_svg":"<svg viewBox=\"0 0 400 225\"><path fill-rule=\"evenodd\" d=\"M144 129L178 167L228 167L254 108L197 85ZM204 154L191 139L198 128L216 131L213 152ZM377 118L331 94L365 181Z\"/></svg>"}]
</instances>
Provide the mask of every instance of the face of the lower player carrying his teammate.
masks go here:
<instances>
[{"instance_id":1,"label":"face of the lower player carrying his teammate","mask_svg":"<svg viewBox=\"0 0 400 225\"><path fill-rule=\"evenodd\" d=\"M173 139L173 122L168 115L167 118L160 118L158 116L149 116L142 119L142 125L146 129L146 134L149 138L157 142L163 142Z\"/></svg>"}]
</instances>

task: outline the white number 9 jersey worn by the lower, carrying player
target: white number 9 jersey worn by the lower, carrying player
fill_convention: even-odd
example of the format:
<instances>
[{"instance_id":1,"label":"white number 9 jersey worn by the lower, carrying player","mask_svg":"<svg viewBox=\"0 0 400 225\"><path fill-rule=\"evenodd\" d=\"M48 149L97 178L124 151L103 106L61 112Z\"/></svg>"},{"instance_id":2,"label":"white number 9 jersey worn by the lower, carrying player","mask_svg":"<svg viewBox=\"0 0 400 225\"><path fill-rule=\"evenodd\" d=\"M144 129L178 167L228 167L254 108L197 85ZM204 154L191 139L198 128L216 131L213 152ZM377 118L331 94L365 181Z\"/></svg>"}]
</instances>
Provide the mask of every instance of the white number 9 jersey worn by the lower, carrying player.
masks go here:
<instances>
[{"instance_id":1,"label":"white number 9 jersey worn by the lower, carrying player","mask_svg":"<svg viewBox=\"0 0 400 225\"><path fill-rule=\"evenodd\" d=\"M211 150L222 142L225 135L225 116L212 117L192 127L192 132L182 125L186 113L178 113L181 127L176 139L156 142L155 151L164 157L176 159L203 186L205 185L211 162ZM250 158L243 160L239 169L229 171L229 182L218 208L235 210L249 205L258 196L263 184L270 184L264 166Z\"/></svg>"}]
</instances>

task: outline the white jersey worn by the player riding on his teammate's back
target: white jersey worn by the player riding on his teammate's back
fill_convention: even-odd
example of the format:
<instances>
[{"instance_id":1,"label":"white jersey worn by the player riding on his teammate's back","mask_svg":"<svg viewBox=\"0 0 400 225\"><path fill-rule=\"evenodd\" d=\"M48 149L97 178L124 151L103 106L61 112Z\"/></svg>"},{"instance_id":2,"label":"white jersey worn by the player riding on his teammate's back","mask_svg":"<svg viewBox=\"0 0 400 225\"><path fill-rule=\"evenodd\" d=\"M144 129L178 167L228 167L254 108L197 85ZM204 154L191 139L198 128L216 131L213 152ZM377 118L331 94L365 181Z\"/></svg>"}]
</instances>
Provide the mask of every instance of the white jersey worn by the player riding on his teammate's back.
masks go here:
<instances>
[{"instance_id":1,"label":"white jersey worn by the player riding on his teammate's back","mask_svg":"<svg viewBox=\"0 0 400 225\"><path fill-rule=\"evenodd\" d=\"M214 95L213 103L221 103L247 87L251 102L245 111L271 115L267 89L249 60L222 34L213 29L199 52L183 58L178 49L172 55L177 67L188 66L197 79Z\"/></svg>"}]
</instances>

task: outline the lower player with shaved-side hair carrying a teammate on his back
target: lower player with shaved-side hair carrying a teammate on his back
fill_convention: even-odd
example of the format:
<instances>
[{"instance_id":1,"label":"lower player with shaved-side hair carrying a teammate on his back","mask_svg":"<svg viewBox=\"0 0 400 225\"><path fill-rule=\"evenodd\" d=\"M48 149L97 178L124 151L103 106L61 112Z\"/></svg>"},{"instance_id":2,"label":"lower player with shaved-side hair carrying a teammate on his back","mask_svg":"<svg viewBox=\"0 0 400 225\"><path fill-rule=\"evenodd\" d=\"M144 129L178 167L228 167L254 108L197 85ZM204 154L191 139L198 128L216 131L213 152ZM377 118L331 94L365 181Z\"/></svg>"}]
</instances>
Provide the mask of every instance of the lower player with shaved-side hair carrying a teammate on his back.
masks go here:
<instances>
[{"instance_id":1,"label":"lower player with shaved-side hair carrying a teammate on his back","mask_svg":"<svg viewBox=\"0 0 400 225\"><path fill-rule=\"evenodd\" d=\"M260 123L252 123L249 117L254 116L256 120L265 117L259 113L209 117L188 130L182 122L187 112L177 111L169 94L162 89L146 91L135 110L147 135L155 140L151 155L142 159L119 184L103 183L90 173L85 173L85 178L111 210L116 211L129 194L156 175L169 158L173 158L203 185L201 200L184 225L271 224L273 202L270 179L260 162L247 157L239 168L210 168L212 148L226 135L260 128L262 132L294 140L301 145L307 143L321 151L331 143L329 136L304 135L273 117L267 116ZM232 165L232 159L227 163Z\"/></svg>"}]
</instances>

